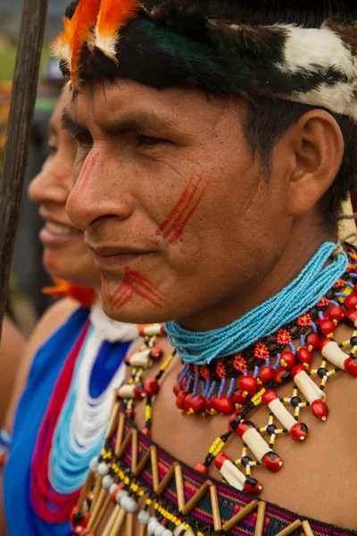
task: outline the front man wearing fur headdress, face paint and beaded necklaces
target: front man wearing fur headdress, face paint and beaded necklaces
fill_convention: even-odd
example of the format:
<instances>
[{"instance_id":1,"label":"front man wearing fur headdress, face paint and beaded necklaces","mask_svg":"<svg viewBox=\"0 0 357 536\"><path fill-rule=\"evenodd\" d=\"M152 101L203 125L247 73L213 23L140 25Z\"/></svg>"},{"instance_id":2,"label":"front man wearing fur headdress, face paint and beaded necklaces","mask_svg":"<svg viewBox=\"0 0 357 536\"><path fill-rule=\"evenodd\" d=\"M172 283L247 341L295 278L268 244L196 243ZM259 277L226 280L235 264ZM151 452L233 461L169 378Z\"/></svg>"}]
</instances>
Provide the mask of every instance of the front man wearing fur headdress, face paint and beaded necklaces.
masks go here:
<instances>
[{"instance_id":1,"label":"front man wearing fur headdress, face paint and beaded necklaces","mask_svg":"<svg viewBox=\"0 0 357 536\"><path fill-rule=\"evenodd\" d=\"M131 417L146 396L135 421L154 440L138 438L142 456L156 453L144 458L150 477L134 439L126 451L131 436L120 449L120 429L92 466L88 532L120 533L127 515L132 533L143 494L137 521L155 536L357 530L356 341L344 323L355 322L355 254L333 244L357 170L357 10L327 0L144 8L71 4L55 45L74 90L63 125L79 144L68 209L95 252L105 312L166 322L184 362L182 373L178 358L167 373L170 359L154 364L142 381L161 330L143 331L147 353L129 359L118 394ZM295 442L280 440L287 432Z\"/></svg>"}]
</instances>

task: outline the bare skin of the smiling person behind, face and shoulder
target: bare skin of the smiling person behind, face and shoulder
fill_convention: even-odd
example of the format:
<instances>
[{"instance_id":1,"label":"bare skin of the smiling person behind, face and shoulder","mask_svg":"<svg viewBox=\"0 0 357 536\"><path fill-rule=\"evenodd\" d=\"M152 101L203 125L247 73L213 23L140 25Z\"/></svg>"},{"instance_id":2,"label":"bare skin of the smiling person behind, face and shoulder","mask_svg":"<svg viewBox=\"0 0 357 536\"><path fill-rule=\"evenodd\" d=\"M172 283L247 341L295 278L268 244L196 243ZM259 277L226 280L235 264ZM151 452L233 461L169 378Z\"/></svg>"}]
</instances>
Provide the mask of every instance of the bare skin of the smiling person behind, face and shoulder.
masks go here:
<instances>
[{"instance_id":1,"label":"bare skin of the smiling person behind, face and shoulder","mask_svg":"<svg viewBox=\"0 0 357 536\"><path fill-rule=\"evenodd\" d=\"M40 205L40 214L46 221L68 226L74 236L74 239L68 243L44 245L43 261L47 272L54 278L64 279L93 289L100 286L100 277L95 269L94 255L87 249L83 233L74 229L65 211L67 197L73 185L72 165L77 152L77 143L68 132L61 128L62 112L65 105L68 104L69 98L70 91L64 89L50 121L49 156L42 171L29 186L29 197L34 203ZM63 322L68 320L78 306L78 302L72 299L62 299L50 307L37 323L21 358L21 366L4 420L5 430L12 431L16 407L28 381L29 369L37 349ZM6 533L4 512L1 511L0 533Z\"/></svg>"}]
</instances>

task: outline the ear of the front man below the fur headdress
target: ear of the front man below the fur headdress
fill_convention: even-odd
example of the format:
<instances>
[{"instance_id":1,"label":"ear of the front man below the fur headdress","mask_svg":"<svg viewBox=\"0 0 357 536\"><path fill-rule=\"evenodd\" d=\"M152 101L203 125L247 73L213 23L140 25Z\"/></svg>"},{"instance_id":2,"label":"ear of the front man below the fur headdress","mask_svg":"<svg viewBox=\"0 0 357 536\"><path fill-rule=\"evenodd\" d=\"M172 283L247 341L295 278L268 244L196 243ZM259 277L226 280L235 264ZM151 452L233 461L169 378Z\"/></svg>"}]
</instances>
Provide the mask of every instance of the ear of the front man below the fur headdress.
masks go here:
<instances>
[{"instance_id":1,"label":"ear of the front man below the fur headdress","mask_svg":"<svg viewBox=\"0 0 357 536\"><path fill-rule=\"evenodd\" d=\"M324 110L311 110L286 132L294 151L294 169L287 192L288 214L307 213L331 186L341 165L345 144L335 119Z\"/></svg>"}]
</instances>

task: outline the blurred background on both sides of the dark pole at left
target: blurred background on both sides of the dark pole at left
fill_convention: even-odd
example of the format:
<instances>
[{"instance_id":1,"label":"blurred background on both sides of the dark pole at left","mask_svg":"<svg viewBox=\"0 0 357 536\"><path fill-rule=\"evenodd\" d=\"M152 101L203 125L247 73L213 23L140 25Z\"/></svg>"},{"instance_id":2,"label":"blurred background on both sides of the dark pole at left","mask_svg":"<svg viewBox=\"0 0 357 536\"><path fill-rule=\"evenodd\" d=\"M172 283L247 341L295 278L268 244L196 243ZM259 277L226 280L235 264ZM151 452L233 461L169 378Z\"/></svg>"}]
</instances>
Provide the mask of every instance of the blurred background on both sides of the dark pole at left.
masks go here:
<instances>
[{"instance_id":1,"label":"blurred background on both sides of the dark pole at left","mask_svg":"<svg viewBox=\"0 0 357 536\"><path fill-rule=\"evenodd\" d=\"M20 31L21 4L21 0L0 0L0 167ZM51 281L41 264L42 246L38 240L38 232L43 224L38 217L37 206L32 205L27 199L27 187L29 181L41 169L46 157L48 119L62 88L63 80L58 64L51 61L50 43L62 29L62 16L66 4L67 0L49 0L21 219L12 263L8 310L26 336L32 331L37 318L52 303L50 297L41 293L42 287L51 284Z\"/></svg>"}]
</instances>

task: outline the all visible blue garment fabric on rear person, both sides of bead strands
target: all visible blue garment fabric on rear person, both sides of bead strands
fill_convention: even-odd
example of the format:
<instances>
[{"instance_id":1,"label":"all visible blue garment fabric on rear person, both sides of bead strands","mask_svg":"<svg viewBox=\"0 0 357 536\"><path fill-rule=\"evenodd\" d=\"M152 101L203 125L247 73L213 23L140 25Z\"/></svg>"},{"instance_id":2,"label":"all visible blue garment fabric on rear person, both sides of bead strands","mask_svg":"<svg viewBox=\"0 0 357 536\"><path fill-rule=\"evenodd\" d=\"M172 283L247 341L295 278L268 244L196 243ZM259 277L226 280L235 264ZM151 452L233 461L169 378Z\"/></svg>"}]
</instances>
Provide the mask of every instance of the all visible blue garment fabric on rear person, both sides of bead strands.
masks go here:
<instances>
[{"instance_id":1,"label":"all visible blue garment fabric on rear person, both sides of bead strands","mask_svg":"<svg viewBox=\"0 0 357 536\"><path fill-rule=\"evenodd\" d=\"M38 349L30 369L29 379L17 408L12 433L10 456L4 469L4 507L8 524L8 536L71 536L70 523L46 523L33 511L29 498L30 466L37 442L37 433L46 414L54 386L63 364L71 353L81 331L84 329L89 310L79 308L46 343ZM91 332L91 327L88 333ZM79 364L82 350L86 346L84 340L76 364ZM96 398L112 380L112 376L120 366L130 343L109 343L104 341L90 376L89 391ZM75 383L76 374L72 383ZM71 388L64 406L71 398ZM64 407L63 406L63 407ZM65 434L66 429L62 427ZM61 433L62 433L61 432ZM100 452L100 445L98 455ZM87 470L82 468L82 482L85 481ZM76 473L67 473L69 477Z\"/></svg>"}]
</instances>

